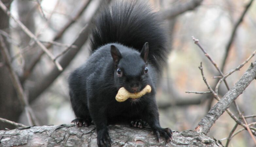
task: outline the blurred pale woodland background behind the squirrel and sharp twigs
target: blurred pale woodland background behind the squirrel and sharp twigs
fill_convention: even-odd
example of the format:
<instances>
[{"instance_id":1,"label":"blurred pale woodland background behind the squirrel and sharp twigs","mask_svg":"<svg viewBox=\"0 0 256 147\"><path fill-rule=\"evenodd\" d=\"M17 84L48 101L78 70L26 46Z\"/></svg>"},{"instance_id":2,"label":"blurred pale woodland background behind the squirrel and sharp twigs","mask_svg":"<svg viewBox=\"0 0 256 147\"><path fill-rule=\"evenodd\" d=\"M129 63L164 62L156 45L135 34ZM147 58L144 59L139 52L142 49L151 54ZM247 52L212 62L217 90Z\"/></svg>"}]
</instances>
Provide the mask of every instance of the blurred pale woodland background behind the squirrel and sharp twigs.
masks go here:
<instances>
[{"instance_id":1,"label":"blurred pale woodland background behind the squirrel and sharp twigs","mask_svg":"<svg viewBox=\"0 0 256 147\"><path fill-rule=\"evenodd\" d=\"M2 0L14 18L19 19L49 51L58 56L64 68L58 71L53 61L28 37L21 27L0 10L0 35L9 49L11 64L23 85L29 104L39 125L69 124L74 118L71 109L67 78L89 56L89 30L101 0ZM211 94L185 93L209 91L198 66L202 62L207 81L214 89L219 76L213 64L194 43L191 36L223 69L226 74L244 62L256 49L256 2L248 8L235 31L230 50L227 46L235 24L250 0L149 0L156 11L163 14L168 27L170 54L164 69L157 102L162 127L175 131L193 130L216 103ZM189 6L184 12L182 8ZM177 12L178 11L178 12ZM176 14L178 13L178 14ZM72 46L73 44L73 46ZM75 45L75 46L74 46ZM228 56L224 62L225 53ZM243 68L227 78L230 88L248 69L253 57ZM223 66L223 63L224 66ZM256 114L256 81L252 81L236 102L244 115ZM222 97L227 88L221 84ZM5 61L0 55L0 117L29 125L26 113L17 97ZM231 111L237 115L234 106ZM255 118L247 119L256 122ZM210 137L228 137L235 122L225 112L213 125ZM0 129L15 128L0 123ZM241 129L238 126L237 130ZM222 140L225 145L226 140ZM230 146L254 146L247 131L231 139Z\"/></svg>"}]
</instances>

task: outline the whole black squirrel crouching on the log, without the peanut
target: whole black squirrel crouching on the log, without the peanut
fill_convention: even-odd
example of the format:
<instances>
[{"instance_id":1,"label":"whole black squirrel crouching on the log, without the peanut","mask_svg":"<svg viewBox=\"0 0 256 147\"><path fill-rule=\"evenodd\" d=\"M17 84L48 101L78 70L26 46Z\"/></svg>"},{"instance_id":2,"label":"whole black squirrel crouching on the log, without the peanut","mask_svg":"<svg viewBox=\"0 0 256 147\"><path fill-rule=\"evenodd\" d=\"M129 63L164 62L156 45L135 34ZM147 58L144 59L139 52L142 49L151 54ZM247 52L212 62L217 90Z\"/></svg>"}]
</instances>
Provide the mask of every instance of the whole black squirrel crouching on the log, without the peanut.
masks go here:
<instances>
[{"instance_id":1,"label":"whole black squirrel crouching on the log, without the peanut","mask_svg":"<svg viewBox=\"0 0 256 147\"><path fill-rule=\"evenodd\" d=\"M145 3L117 1L103 8L92 30L92 55L69 76L69 94L77 126L96 125L99 147L111 146L107 125L147 123L156 138L172 139L162 128L155 100L156 86L166 61L166 30L159 15ZM146 85L151 92L141 98L117 102L121 87L130 93Z\"/></svg>"}]
</instances>

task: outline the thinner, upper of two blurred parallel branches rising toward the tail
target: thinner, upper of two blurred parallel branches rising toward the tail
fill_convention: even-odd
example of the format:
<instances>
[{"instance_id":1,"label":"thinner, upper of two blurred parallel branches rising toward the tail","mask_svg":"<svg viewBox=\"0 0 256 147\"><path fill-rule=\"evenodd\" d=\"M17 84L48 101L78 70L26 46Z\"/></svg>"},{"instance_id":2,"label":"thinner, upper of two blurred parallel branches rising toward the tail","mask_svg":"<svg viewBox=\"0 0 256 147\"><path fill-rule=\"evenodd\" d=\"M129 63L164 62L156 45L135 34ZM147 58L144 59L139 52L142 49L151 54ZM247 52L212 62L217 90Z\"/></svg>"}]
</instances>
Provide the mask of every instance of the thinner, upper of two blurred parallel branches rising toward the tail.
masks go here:
<instances>
[{"instance_id":1,"label":"thinner, upper of two blurred parallel branches rising toward the tail","mask_svg":"<svg viewBox=\"0 0 256 147\"><path fill-rule=\"evenodd\" d=\"M83 7L77 12L77 14L74 16L72 20L70 20L65 26L55 35L53 41L57 41L60 39L60 37L64 34L64 32L73 24L76 22L76 20L83 14L84 10L88 7L92 0L89 1L83 1ZM49 44L46 46L46 48L50 48L52 44ZM29 75L32 73L34 67L37 65L37 63L40 61L41 57L43 56L44 52L41 51L36 57L34 57L28 66L27 69L25 69L24 74L21 77L21 81L24 82Z\"/></svg>"}]
</instances>

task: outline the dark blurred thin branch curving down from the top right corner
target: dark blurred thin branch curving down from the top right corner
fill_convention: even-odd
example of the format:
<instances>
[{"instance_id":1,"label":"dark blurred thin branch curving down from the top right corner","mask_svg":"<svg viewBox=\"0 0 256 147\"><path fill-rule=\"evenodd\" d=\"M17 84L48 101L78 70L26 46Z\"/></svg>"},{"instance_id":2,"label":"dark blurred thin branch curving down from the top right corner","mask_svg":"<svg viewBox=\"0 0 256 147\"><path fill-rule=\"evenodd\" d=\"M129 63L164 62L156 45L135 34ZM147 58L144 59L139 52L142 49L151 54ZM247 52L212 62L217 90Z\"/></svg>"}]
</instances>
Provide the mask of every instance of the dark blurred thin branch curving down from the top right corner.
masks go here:
<instances>
[{"instance_id":1,"label":"dark blurred thin branch curving down from the top right corner","mask_svg":"<svg viewBox=\"0 0 256 147\"><path fill-rule=\"evenodd\" d=\"M230 48L231 48L231 44L233 43L234 41L234 38L235 38L235 33L236 33L236 30L238 28L238 26L242 23L243 19L244 19L244 16L247 12L247 10L249 9L249 7L251 6L253 0L251 0L245 7L243 13L241 14L241 16L239 17L238 21L235 23L234 27L233 27L233 30L232 30L232 34L230 36L230 39L228 41L228 45L226 47L226 50L225 50L225 53L224 53L224 59L222 61L222 64L221 64L221 71L223 72L224 71L224 68L225 68L225 63L226 63L226 60L227 60L227 57L228 57L228 54L229 54L229 51L230 51Z\"/></svg>"}]
</instances>

